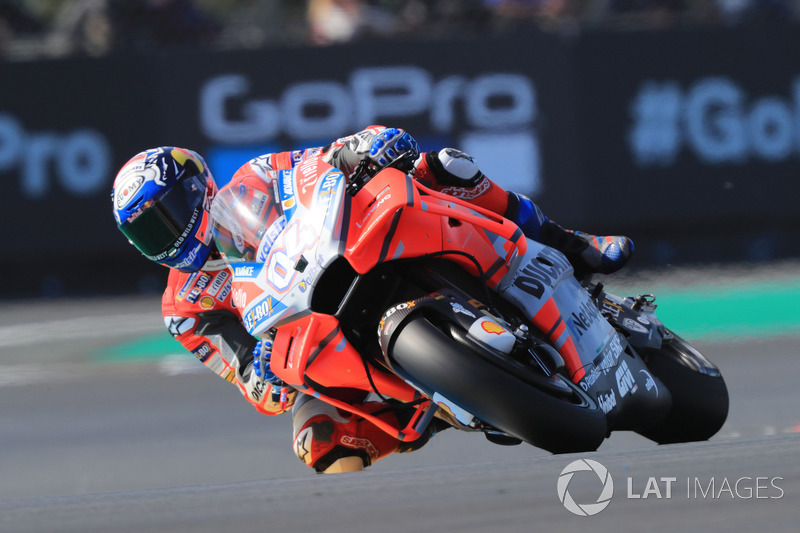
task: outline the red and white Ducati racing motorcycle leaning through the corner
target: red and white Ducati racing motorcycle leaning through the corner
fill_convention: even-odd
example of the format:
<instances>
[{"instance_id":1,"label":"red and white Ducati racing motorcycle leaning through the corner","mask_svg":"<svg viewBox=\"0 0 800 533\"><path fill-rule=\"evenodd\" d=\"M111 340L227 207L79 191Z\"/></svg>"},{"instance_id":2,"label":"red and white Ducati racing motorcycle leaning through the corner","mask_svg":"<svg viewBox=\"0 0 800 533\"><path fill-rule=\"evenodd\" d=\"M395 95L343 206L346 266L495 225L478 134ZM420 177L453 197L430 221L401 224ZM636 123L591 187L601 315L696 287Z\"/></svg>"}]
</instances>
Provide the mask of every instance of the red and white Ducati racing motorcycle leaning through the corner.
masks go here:
<instances>
[{"instance_id":1,"label":"red and white Ducati racing motorcycle leaning through the corner","mask_svg":"<svg viewBox=\"0 0 800 533\"><path fill-rule=\"evenodd\" d=\"M274 335L272 371L401 441L438 418L581 452L618 430L705 440L727 417L719 369L654 297L581 282L509 220L399 170L348 184L310 159L224 188L212 223L243 323ZM353 389L413 416L388 423L348 402Z\"/></svg>"}]
</instances>

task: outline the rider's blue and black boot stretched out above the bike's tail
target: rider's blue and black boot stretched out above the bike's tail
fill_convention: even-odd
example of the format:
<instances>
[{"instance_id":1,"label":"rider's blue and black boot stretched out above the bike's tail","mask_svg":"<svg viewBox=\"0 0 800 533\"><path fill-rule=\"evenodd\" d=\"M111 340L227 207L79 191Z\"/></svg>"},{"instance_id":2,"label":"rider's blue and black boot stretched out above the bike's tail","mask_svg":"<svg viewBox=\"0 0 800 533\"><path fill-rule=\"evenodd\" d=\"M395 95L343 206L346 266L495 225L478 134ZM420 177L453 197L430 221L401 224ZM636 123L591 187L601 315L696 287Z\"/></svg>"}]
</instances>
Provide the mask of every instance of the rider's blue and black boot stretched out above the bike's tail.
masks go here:
<instances>
[{"instance_id":1,"label":"rider's blue and black boot stretched out above the bike's tail","mask_svg":"<svg viewBox=\"0 0 800 533\"><path fill-rule=\"evenodd\" d=\"M597 236L567 230L544 216L539 207L521 194L509 193L509 218L525 236L555 248L567 256L575 275L611 274L628 262L633 241L624 236Z\"/></svg>"}]
</instances>

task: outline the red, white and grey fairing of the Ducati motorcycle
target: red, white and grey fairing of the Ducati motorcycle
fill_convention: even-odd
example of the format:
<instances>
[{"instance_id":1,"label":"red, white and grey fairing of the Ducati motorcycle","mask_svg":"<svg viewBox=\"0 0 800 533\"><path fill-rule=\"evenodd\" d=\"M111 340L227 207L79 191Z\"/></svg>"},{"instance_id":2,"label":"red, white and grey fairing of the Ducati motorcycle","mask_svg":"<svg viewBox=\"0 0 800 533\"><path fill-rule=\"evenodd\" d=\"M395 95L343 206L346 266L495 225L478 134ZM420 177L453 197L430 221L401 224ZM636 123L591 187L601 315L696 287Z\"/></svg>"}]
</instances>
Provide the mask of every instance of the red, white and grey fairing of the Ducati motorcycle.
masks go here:
<instances>
[{"instance_id":1,"label":"red, white and grey fairing of the Ducati motorcycle","mask_svg":"<svg viewBox=\"0 0 800 533\"><path fill-rule=\"evenodd\" d=\"M330 167L317 168L320 164L324 165L321 162L314 163L318 173L315 191L321 189L325 176L335 172ZM408 176L391 170L383 171L387 175L385 179L373 178L367 182L364 189L372 189L368 194L357 194L353 198L345 194L344 180L337 181L338 185L330 189L336 201L326 203L327 210L320 215L310 211L304 202L296 201L296 196L293 199L286 194L298 189L296 180L300 174L303 174L304 186L310 185L310 167L310 164L307 167L300 165L291 173L281 173L280 179L276 179L275 183L282 181L283 186L276 189L277 194L273 201L282 207L287 202L291 205L292 223L286 228L295 227L295 233L299 231L301 221L307 217L310 223L302 224L309 230L307 235L315 238L314 242L309 239L302 247L296 245L290 256L285 250L288 241L284 234L283 238L275 240L275 245L267 254L263 265L252 265L252 275L243 279L236 279L234 276L234 286L243 295L247 295L243 297L241 311L246 317L245 325L250 333L258 335L278 326L279 337L276 339L274 354L277 354L278 363L282 362L284 368L288 366L292 370L281 372L278 369L276 373L287 383L322 397L341 409L381 424L381 421L370 418L369 413L354 410L346 402L337 401L325 394L330 386L343 386L342 383L323 384L312 380L305 373L307 366L321 353L329 351L331 346L335 347L335 351L350 354L349 365L345 364L342 357L338 360L346 368L344 373L355 372L363 364L360 356L348 346L348 340L342 335L335 318L309 311L315 283L324 270L340 256L345 257L356 272L365 273L386 260L422 257L432 251L449 250L456 254L457 251L470 250L475 252L473 255L477 260L467 260L458 255L451 259L474 274L482 275L489 286L524 309L534 325L545 332L556 345L564 357L570 376L574 382L580 383L583 390L591 389L601 376L605 376L619 362L623 346L616 330L601 319L588 293L579 284L564 283L565 280L573 279L570 264L554 250L533 241L526 242L518 228L510 227L513 224L508 221L504 224L497 215L483 212L475 206L461 204L435 191L425 190L418 183L413 183ZM286 181L291 176L295 181L287 184ZM425 196L421 196L423 192ZM233 211L235 207L230 203L226 205L223 200L219 203L215 201L212 208L215 231L220 227L220 221L224 223L229 218L225 209ZM406 211L413 212L413 216L406 216ZM349 221L345 220L345 215L350 216ZM426 220L417 220L415 217ZM437 223L431 224L434 220ZM480 225L463 229L478 221ZM224 230L224 224L222 228ZM273 260L281 254L289 258L289 261ZM477 270L472 261L477 261ZM483 264L480 264L481 261ZM248 268L250 266L248 264ZM255 269L258 268L260 272L256 274ZM294 272L290 273L290 268ZM274 283L276 275L277 279L282 280L280 285ZM257 296L253 296L254 294ZM575 307L574 302L579 302L579 305ZM461 306L460 309L465 308ZM564 319L561 309L573 311ZM500 325L497 327L502 328ZM287 329L294 333L286 333L281 338L283 330ZM292 339L296 340L294 344ZM291 346L291 353L281 354L279 346L285 350L289 350ZM319 360L324 359L325 357L321 357ZM341 373L343 368L337 371ZM619 365L619 369L625 371L623 377L631 376L625 361ZM616 390L622 398L629 391L635 392L638 387L634 382L622 381L620 370L616 373ZM643 367L634 370L646 374L647 390L652 389L652 375ZM364 390L375 388L374 376L369 374L354 374L348 378L353 378L347 383L348 386L363 387ZM606 382L607 379L603 382L604 386ZM622 384L627 385L627 388L622 387ZM380 388L384 392L387 390L384 388L386 385L381 383ZM402 388L397 383L389 385L394 390ZM401 396L413 398L414 392L407 390ZM642 394L638 397L642 397ZM603 411L612 411L616 407L616 393L613 397L598 393L597 400ZM439 403L448 404L446 401ZM642 397L642 405L656 404L656 398ZM659 405L663 407L663 402ZM417 417L421 416L418 412ZM385 423L380 427L390 433L397 432L401 440L413 440L419 436L412 424L402 429L387 427Z\"/></svg>"}]
</instances>

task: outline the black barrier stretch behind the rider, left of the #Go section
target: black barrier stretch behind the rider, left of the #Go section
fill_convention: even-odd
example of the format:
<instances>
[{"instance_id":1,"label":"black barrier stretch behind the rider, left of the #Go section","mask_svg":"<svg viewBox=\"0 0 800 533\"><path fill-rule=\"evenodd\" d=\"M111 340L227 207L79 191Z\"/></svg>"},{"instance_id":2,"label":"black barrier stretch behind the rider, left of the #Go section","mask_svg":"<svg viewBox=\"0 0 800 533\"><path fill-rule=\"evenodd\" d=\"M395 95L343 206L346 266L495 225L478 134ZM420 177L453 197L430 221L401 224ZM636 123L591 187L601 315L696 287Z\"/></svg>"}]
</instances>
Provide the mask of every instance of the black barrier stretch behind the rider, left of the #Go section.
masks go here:
<instances>
[{"instance_id":1,"label":"black barrier stretch behind the rider, left of the #Go section","mask_svg":"<svg viewBox=\"0 0 800 533\"><path fill-rule=\"evenodd\" d=\"M14 80L0 87L0 211L20 226L3 270L28 280L0 297L159 286L163 270L124 242L109 200L116 170L151 146L199 151L224 183L254 155L382 123L425 149L465 148L504 185L546 195L546 173L576 177L558 168L573 160L566 54L539 35L0 65ZM69 157L58 151L76 136Z\"/></svg>"}]
</instances>

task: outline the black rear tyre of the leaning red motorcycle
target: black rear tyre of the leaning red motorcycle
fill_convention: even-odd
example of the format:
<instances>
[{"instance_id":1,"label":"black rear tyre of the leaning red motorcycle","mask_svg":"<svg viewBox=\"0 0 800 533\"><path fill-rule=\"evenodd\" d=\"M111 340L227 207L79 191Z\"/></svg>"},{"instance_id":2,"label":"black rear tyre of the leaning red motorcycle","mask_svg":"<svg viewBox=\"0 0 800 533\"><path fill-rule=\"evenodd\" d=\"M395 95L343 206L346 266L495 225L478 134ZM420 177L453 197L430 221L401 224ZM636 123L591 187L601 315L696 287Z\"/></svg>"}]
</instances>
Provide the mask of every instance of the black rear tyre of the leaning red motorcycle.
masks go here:
<instances>
[{"instance_id":1,"label":"black rear tyre of the leaning red motorcycle","mask_svg":"<svg viewBox=\"0 0 800 533\"><path fill-rule=\"evenodd\" d=\"M672 395L662 423L639 433L659 444L708 440L728 417L728 388L719 370L675 335L659 350L639 350Z\"/></svg>"}]
</instances>

